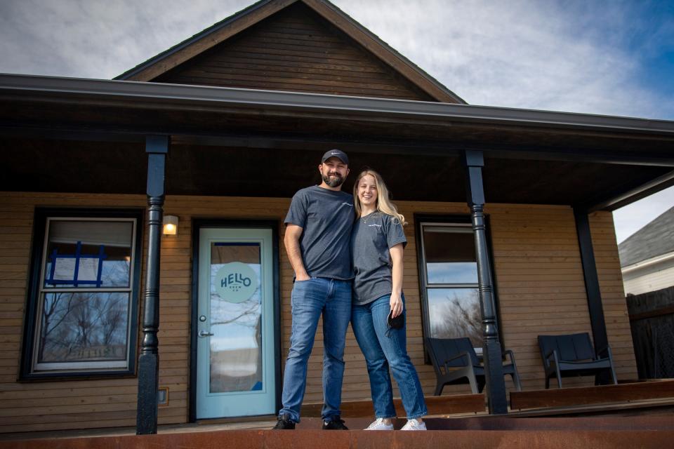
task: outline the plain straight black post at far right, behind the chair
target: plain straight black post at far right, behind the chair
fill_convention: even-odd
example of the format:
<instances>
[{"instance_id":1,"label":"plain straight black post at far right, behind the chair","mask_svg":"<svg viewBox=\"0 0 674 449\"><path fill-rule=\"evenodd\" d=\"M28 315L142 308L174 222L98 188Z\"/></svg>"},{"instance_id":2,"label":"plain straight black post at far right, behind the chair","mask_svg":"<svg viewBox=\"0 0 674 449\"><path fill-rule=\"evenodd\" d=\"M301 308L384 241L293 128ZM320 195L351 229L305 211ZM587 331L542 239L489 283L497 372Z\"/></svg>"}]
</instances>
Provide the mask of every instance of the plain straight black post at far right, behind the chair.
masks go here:
<instances>
[{"instance_id":1,"label":"plain straight black post at far right, behind the chair","mask_svg":"<svg viewBox=\"0 0 674 449\"><path fill-rule=\"evenodd\" d=\"M609 344L604 321L604 307L602 307L602 293L599 289L599 277L595 264L595 251L592 248L592 234L590 234L590 220L588 211L584 208L574 208L576 218L576 233L581 250L583 264L583 278L588 295L588 311L590 312L590 327L595 348L603 348Z\"/></svg>"}]
</instances>

